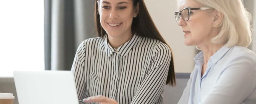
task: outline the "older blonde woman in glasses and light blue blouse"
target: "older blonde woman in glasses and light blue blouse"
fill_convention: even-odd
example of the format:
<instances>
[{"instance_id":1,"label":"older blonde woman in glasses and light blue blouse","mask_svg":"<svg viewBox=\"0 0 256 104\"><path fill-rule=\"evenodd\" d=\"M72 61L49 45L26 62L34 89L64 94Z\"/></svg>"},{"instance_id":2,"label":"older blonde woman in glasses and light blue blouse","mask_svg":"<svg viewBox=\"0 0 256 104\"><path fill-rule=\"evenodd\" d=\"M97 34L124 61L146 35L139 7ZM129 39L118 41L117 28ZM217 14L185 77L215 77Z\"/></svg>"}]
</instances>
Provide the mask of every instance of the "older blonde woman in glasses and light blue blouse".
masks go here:
<instances>
[{"instance_id":1,"label":"older blonde woman in glasses and light blue blouse","mask_svg":"<svg viewBox=\"0 0 256 104\"><path fill-rule=\"evenodd\" d=\"M185 44L202 50L178 104L256 104L256 54L242 0L180 0Z\"/></svg>"}]
</instances>

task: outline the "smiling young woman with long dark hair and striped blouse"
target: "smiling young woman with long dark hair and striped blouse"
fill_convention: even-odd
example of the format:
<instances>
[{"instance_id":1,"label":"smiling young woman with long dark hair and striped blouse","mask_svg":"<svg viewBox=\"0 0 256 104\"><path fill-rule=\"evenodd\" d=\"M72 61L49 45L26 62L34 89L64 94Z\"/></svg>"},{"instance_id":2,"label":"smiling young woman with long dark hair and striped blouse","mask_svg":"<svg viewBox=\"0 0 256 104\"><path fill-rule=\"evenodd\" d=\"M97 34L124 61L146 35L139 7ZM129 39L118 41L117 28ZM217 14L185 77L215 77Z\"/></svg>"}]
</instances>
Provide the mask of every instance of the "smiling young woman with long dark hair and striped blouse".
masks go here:
<instances>
[{"instance_id":1,"label":"smiling young woman with long dark hair and striped blouse","mask_svg":"<svg viewBox=\"0 0 256 104\"><path fill-rule=\"evenodd\" d=\"M79 102L161 104L173 60L143 0L96 0L95 22L99 37L80 44L72 66Z\"/></svg>"}]
</instances>

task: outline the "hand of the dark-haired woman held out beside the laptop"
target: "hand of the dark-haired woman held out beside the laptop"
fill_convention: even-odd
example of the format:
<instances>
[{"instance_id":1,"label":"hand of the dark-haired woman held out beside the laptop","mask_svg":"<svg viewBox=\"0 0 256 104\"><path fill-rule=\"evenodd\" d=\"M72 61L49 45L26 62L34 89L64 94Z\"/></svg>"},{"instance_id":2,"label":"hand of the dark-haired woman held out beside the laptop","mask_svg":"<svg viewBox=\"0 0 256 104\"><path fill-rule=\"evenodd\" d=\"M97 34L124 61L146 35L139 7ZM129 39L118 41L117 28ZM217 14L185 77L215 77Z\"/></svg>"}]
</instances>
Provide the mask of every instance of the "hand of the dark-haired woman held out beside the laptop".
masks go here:
<instances>
[{"instance_id":1,"label":"hand of the dark-haired woman held out beside the laptop","mask_svg":"<svg viewBox=\"0 0 256 104\"><path fill-rule=\"evenodd\" d=\"M83 99L84 102L99 102L99 104L118 104L117 101L115 101L114 99L111 98L107 98L105 96L92 96L89 98L85 98Z\"/></svg>"}]
</instances>

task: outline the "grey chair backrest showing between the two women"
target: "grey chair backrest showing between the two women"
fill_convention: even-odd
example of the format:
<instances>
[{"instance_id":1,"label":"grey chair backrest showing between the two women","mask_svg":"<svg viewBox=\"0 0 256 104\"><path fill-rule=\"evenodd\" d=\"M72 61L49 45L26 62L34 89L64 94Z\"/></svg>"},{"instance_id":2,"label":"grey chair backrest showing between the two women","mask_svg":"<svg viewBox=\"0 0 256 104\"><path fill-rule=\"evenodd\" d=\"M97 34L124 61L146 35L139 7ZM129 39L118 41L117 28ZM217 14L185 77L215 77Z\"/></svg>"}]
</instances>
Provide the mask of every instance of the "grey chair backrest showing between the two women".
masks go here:
<instances>
[{"instance_id":1,"label":"grey chair backrest showing between the two women","mask_svg":"<svg viewBox=\"0 0 256 104\"><path fill-rule=\"evenodd\" d=\"M164 104L177 104L190 77L190 73L175 73L176 86L165 85L163 91Z\"/></svg>"}]
</instances>

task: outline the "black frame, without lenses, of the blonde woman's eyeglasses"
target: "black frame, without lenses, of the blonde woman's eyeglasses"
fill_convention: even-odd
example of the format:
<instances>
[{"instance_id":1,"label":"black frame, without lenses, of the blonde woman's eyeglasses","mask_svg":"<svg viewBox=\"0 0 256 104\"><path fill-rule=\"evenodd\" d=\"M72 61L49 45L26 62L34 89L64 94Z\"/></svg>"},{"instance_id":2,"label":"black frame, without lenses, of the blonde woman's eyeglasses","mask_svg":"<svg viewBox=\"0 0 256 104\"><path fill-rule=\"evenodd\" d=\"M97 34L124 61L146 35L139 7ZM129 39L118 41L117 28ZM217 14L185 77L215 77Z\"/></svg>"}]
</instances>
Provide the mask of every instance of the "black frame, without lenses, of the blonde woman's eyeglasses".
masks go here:
<instances>
[{"instance_id":1,"label":"black frame, without lenses, of the blonde woman's eyeglasses","mask_svg":"<svg viewBox=\"0 0 256 104\"><path fill-rule=\"evenodd\" d=\"M188 10L188 20L189 20L189 17L190 17L190 14L191 14L190 10L209 10L209 9L212 9L212 8L208 8L208 7L189 8L189 7L186 7L186 8L184 8L183 10L186 10L186 9ZM184 20L184 18L181 16L181 12L182 12L183 10L181 10L181 11L176 11L176 12L174 13L175 20L176 20L177 23L179 22L179 19L180 19L180 18L182 18L182 20ZM178 13L178 15L179 15L178 20L177 20L177 18L176 18L176 13ZM186 20L186 21L188 21L188 20ZM184 20L184 21L185 21L185 20Z\"/></svg>"}]
</instances>

